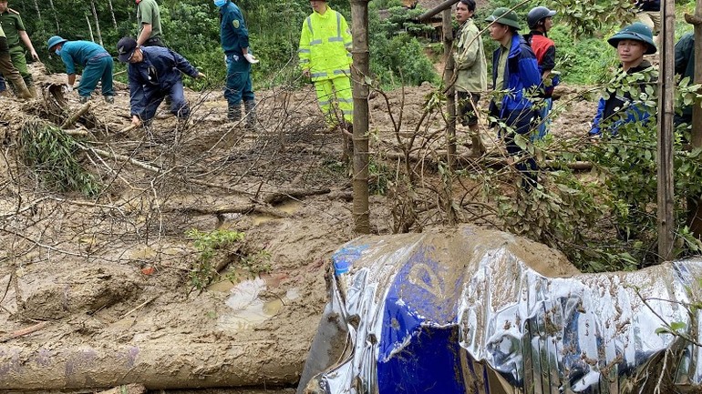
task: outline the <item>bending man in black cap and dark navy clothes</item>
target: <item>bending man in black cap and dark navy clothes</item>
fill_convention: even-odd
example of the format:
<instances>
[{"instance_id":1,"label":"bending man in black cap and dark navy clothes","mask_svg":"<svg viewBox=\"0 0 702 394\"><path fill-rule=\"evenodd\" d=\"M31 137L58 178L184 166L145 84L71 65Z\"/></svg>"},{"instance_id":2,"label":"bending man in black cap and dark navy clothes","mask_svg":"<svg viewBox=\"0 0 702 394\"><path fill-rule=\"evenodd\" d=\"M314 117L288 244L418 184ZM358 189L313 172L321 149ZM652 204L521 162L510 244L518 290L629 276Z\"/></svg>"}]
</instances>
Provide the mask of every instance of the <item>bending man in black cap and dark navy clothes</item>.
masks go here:
<instances>
[{"instance_id":1,"label":"bending man in black cap and dark navy clothes","mask_svg":"<svg viewBox=\"0 0 702 394\"><path fill-rule=\"evenodd\" d=\"M122 37L117 43L117 50L119 61L129 63L129 106L133 125L149 124L166 96L170 97L170 112L173 115L181 119L190 116L181 73L193 78L203 78L203 73L169 48L139 46L132 37Z\"/></svg>"}]
</instances>

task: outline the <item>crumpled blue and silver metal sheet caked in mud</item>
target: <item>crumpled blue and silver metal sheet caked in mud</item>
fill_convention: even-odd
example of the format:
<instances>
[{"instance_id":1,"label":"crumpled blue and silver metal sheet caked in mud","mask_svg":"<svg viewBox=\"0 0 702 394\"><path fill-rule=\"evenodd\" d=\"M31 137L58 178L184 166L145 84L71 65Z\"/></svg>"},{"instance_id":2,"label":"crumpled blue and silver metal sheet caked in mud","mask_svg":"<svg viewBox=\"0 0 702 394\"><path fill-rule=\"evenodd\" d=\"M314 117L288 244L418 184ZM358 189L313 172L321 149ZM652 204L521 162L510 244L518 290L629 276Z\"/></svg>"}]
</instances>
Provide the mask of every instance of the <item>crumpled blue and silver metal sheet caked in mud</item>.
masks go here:
<instances>
[{"instance_id":1,"label":"crumpled blue and silver metal sheet caked in mud","mask_svg":"<svg viewBox=\"0 0 702 394\"><path fill-rule=\"evenodd\" d=\"M656 334L702 340L702 260L580 274L554 256L479 227L346 244L320 324L340 335L315 340L298 393L702 392L700 349Z\"/></svg>"}]
</instances>

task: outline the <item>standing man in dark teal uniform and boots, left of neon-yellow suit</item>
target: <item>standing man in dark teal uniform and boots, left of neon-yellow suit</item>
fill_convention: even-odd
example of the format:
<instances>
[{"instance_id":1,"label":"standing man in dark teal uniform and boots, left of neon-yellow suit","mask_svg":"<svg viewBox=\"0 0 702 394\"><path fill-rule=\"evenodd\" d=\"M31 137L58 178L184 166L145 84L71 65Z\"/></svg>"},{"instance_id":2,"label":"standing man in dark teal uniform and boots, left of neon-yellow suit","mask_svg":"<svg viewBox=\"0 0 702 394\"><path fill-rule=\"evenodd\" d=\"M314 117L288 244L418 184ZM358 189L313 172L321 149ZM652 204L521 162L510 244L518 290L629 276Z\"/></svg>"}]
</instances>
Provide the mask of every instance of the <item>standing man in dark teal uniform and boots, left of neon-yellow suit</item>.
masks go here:
<instances>
[{"instance_id":1,"label":"standing man in dark teal uniform and boots, left of neon-yellow suit","mask_svg":"<svg viewBox=\"0 0 702 394\"><path fill-rule=\"evenodd\" d=\"M249 53L249 30L243 20L242 10L232 0L214 0L220 7L220 41L227 65L224 97L227 99L227 119L242 120L242 100L246 112L246 126L256 127L256 101L253 96L251 65L258 60Z\"/></svg>"}]
</instances>

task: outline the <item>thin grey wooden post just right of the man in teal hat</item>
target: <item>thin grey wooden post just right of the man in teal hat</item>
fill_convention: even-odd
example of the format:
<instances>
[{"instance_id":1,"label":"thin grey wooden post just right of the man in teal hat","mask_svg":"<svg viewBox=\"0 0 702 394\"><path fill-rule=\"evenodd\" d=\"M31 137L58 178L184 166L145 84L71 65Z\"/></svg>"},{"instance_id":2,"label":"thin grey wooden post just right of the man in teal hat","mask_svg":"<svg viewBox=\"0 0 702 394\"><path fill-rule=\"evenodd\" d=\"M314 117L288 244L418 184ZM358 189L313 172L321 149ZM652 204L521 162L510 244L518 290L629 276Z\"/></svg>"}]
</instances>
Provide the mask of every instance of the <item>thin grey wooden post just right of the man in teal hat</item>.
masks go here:
<instances>
[{"instance_id":1,"label":"thin grey wooden post just right of the man in teal hat","mask_svg":"<svg viewBox=\"0 0 702 394\"><path fill-rule=\"evenodd\" d=\"M661 2L663 33L660 50L660 78L658 78L658 258L673 258L673 115L675 89L675 0Z\"/></svg>"}]
</instances>

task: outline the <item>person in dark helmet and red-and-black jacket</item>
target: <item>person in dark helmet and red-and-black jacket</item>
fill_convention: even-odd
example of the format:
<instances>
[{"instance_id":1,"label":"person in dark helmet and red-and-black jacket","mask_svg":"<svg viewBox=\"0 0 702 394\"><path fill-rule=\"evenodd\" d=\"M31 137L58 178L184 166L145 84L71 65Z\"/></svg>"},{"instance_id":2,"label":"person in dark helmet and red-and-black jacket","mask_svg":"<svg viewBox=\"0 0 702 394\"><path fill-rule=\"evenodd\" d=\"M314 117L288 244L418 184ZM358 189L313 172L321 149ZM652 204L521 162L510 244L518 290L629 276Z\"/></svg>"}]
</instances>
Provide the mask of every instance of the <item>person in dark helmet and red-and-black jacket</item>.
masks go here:
<instances>
[{"instance_id":1,"label":"person in dark helmet and red-and-black jacket","mask_svg":"<svg viewBox=\"0 0 702 394\"><path fill-rule=\"evenodd\" d=\"M527 14L527 25L529 25L531 31L528 35L524 35L524 40L532 46L536 56L536 63L539 65L539 72L542 74L543 84L543 102L538 108L541 122L538 126L538 134L532 136L532 141L546 136L546 124L548 123L549 112L551 112L553 106L553 87L560 82L558 76L551 75L553 67L556 66L556 45L548 37L548 32L553 26L553 15L556 15L556 12L544 6L534 7Z\"/></svg>"}]
</instances>

